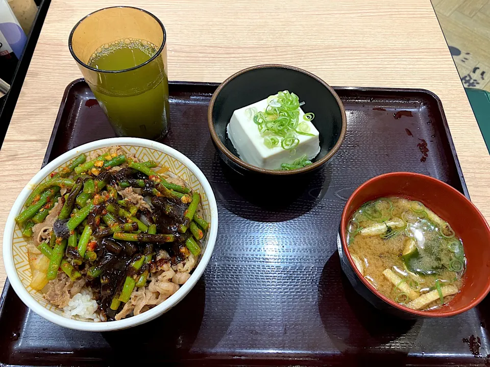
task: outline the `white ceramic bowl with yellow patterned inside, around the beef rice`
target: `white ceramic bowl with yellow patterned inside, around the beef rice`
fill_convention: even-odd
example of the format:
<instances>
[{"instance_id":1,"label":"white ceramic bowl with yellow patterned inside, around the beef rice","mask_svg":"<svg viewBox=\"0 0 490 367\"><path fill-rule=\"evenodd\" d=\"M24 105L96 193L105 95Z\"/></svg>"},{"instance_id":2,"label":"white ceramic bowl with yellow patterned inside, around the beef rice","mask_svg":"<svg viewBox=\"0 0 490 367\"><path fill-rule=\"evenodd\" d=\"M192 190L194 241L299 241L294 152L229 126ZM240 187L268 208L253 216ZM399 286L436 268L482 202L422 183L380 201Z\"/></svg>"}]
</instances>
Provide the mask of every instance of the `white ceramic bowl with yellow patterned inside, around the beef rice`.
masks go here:
<instances>
[{"instance_id":1,"label":"white ceramic bowl with yellow patterned inside, around the beef rice","mask_svg":"<svg viewBox=\"0 0 490 367\"><path fill-rule=\"evenodd\" d=\"M22 237L21 228L15 222L15 217L21 212L24 202L32 190L35 189L39 183L46 180L52 172L56 172L60 167L66 166L70 160L76 158L80 153L89 153L93 150L115 145L120 146L127 152L135 154L140 160L153 159L159 166L170 167L171 172L182 177L192 190L199 192L202 197L205 219L211 224L210 229L206 234L206 239L202 241L203 251L198 266L180 289L161 304L146 312L140 313L137 316L119 321L90 322L68 319L62 316L63 311L61 309L44 300L39 291L35 291L29 287L31 270L27 257L27 241L26 238ZM174 307L187 295L187 293L189 293L209 263L216 241L217 228L218 211L211 186L201 170L185 155L166 145L145 139L104 139L84 144L62 154L41 169L41 171L29 181L27 186L23 188L17 197L17 200L15 200L5 226L3 242L4 263L7 276L14 291L20 297L22 302L44 319L70 329L85 331L120 330L140 325L159 317L161 314Z\"/></svg>"}]
</instances>

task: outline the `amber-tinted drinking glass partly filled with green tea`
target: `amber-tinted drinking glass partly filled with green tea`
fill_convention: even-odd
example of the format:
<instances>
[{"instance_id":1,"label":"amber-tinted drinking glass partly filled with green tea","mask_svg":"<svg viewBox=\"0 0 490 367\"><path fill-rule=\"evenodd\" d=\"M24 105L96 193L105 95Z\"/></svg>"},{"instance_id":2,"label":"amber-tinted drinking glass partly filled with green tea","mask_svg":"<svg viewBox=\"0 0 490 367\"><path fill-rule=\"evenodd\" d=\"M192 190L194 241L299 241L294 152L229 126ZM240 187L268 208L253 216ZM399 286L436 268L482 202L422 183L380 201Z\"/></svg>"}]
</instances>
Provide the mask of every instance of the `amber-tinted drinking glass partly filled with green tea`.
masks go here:
<instances>
[{"instance_id":1,"label":"amber-tinted drinking glass partly filled with green tea","mask_svg":"<svg viewBox=\"0 0 490 367\"><path fill-rule=\"evenodd\" d=\"M157 17L131 7L98 10L75 25L68 43L118 136L166 135L167 50Z\"/></svg>"}]
</instances>

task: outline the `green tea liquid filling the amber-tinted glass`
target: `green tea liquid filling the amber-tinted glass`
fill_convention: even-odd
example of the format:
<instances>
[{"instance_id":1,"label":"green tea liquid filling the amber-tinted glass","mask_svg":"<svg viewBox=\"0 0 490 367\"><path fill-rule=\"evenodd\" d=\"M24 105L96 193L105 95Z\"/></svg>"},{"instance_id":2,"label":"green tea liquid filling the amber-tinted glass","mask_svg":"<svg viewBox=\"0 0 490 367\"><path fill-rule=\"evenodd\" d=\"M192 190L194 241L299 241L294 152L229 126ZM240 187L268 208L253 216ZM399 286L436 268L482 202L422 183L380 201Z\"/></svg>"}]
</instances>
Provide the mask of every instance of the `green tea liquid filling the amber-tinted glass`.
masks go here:
<instances>
[{"instance_id":1,"label":"green tea liquid filling the amber-tinted glass","mask_svg":"<svg viewBox=\"0 0 490 367\"><path fill-rule=\"evenodd\" d=\"M157 47L146 41L124 39L101 46L88 65L99 70L126 70L150 60ZM119 136L157 139L167 133L169 122L168 78L162 55L134 70L94 72L90 84Z\"/></svg>"}]
</instances>

